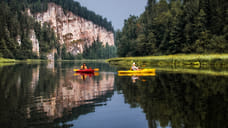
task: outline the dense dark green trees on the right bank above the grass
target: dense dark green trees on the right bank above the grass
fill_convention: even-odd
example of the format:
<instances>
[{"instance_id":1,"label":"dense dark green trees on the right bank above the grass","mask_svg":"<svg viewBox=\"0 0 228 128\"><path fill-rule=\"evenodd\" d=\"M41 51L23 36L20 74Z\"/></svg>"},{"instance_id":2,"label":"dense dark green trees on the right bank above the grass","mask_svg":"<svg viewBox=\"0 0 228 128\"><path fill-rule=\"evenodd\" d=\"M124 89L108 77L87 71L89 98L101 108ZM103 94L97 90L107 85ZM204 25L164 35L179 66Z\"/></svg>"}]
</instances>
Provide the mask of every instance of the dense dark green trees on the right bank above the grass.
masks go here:
<instances>
[{"instance_id":1,"label":"dense dark green trees on the right bank above the grass","mask_svg":"<svg viewBox=\"0 0 228 128\"><path fill-rule=\"evenodd\" d=\"M116 32L119 56L228 52L227 0L148 0Z\"/></svg>"}]
</instances>

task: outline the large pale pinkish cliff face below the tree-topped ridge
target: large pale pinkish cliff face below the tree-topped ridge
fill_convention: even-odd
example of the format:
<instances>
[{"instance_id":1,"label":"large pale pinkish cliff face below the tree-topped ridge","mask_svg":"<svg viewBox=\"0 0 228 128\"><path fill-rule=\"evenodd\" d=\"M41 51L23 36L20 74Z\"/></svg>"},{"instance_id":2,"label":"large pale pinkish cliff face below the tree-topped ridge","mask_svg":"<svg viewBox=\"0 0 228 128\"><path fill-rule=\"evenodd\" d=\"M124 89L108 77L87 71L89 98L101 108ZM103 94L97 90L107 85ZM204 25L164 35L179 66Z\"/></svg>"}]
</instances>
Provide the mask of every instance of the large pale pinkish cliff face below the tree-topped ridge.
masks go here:
<instances>
[{"instance_id":1,"label":"large pale pinkish cliff face below the tree-topped ridge","mask_svg":"<svg viewBox=\"0 0 228 128\"><path fill-rule=\"evenodd\" d=\"M49 23L59 37L60 44L65 44L67 52L73 55L82 53L85 44L91 45L97 39L104 45L106 43L114 45L113 32L76 16L72 12L64 13L62 7L54 3L48 4L46 12L33 14L33 17L41 24Z\"/></svg>"}]
</instances>

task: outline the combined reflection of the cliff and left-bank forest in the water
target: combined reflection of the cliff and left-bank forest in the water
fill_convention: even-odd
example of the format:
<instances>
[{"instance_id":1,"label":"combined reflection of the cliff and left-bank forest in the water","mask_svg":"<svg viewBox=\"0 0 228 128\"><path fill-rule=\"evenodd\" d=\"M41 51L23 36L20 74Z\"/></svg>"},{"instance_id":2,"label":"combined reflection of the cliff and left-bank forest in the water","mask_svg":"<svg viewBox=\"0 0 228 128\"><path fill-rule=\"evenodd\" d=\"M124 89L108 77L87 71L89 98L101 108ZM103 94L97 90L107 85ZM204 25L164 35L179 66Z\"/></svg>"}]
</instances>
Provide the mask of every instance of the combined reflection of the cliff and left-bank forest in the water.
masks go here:
<instances>
[{"instance_id":1,"label":"combined reflection of the cliff and left-bank forest in the water","mask_svg":"<svg viewBox=\"0 0 228 128\"><path fill-rule=\"evenodd\" d=\"M74 76L74 66L75 63L48 63L1 67L0 125L66 127L60 122L93 112L95 106L112 96L114 74L93 74L81 79Z\"/></svg>"}]
</instances>

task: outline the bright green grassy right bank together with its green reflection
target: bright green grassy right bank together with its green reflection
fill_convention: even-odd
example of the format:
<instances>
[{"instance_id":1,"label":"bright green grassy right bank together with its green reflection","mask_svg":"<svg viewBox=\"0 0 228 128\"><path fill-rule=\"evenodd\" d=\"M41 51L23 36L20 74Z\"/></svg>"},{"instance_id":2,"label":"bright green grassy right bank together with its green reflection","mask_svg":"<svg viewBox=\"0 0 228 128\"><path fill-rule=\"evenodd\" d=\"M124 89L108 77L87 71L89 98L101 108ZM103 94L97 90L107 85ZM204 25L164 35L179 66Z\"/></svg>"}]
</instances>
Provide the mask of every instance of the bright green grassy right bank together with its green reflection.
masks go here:
<instances>
[{"instance_id":1,"label":"bright green grassy right bank together with its green reflection","mask_svg":"<svg viewBox=\"0 0 228 128\"><path fill-rule=\"evenodd\" d=\"M121 57L106 60L129 69L133 62L140 68L160 71L228 76L228 54L177 54L166 56Z\"/></svg>"}]
</instances>

